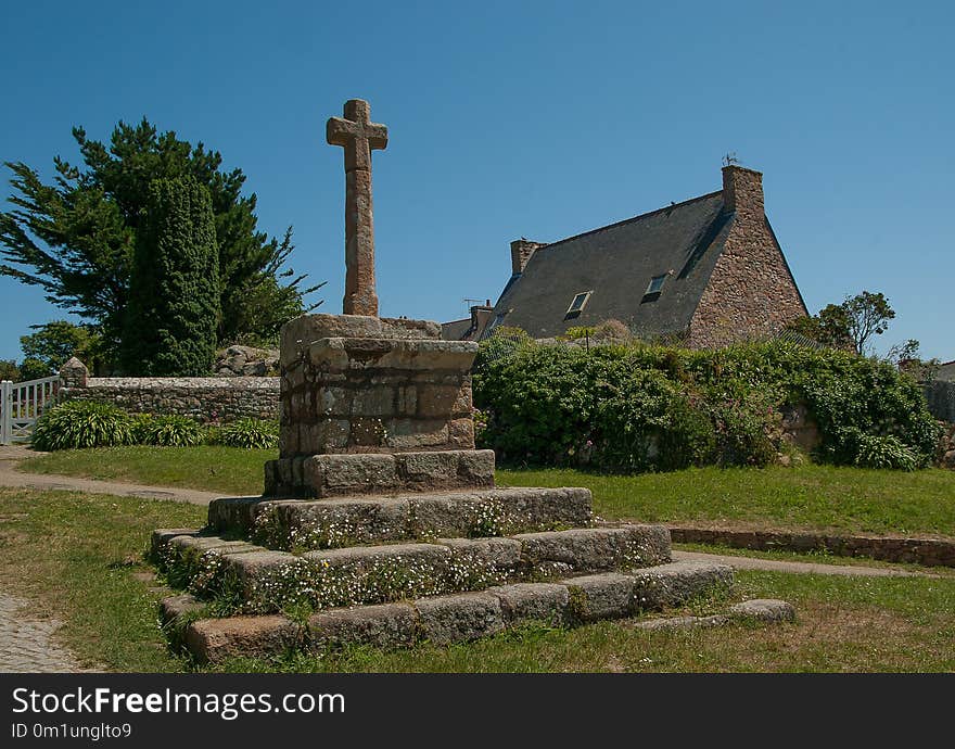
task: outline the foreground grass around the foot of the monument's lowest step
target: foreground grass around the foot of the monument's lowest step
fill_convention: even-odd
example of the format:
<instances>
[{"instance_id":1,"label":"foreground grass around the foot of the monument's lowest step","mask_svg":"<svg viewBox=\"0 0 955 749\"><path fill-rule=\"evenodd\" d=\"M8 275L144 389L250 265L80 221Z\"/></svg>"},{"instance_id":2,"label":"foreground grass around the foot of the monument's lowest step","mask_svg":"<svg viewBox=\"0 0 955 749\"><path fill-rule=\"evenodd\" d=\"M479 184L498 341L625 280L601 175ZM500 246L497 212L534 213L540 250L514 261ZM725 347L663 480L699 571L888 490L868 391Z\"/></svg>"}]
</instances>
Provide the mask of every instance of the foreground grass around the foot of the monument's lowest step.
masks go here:
<instances>
[{"instance_id":1,"label":"foreground grass around the foot of the monument's lowest step","mask_svg":"<svg viewBox=\"0 0 955 749\"><path fill-rule=\"evenodd\" d=\"M181 671L156 621L160 592L139 563L154 528L198 525L201 507L67 492L0 490L0 589L65 622L64 644L114 671ZM738 574L737 597L780 597L799 619L680 633L627 621L524 629L415 650L356 649L324 659L234 662L289 671L952 671L955 576L863 579Z\"/></svg>"}]
</instances>

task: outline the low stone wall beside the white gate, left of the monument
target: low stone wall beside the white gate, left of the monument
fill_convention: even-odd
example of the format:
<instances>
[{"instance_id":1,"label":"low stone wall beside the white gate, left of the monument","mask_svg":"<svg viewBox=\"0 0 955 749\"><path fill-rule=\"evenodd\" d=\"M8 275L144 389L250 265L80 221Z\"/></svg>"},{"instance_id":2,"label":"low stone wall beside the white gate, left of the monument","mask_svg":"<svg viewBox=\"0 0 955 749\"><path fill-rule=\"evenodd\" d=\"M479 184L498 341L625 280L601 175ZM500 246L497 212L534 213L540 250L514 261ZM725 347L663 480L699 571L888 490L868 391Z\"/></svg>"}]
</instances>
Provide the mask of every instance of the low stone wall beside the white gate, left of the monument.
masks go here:
<instances>
[{"instance_id":1,"label":"low stone wall beside the white gate, left of the monument","mask_svg":"<svg viewBox=\"0 0 955 749\"><path fill-rule=\"evenodd\" d=\"M179 414L203 423L278 419L277 377L87 377L60 389L61 401L104 401L130 412Z\"/></svg>"}]
</instances>

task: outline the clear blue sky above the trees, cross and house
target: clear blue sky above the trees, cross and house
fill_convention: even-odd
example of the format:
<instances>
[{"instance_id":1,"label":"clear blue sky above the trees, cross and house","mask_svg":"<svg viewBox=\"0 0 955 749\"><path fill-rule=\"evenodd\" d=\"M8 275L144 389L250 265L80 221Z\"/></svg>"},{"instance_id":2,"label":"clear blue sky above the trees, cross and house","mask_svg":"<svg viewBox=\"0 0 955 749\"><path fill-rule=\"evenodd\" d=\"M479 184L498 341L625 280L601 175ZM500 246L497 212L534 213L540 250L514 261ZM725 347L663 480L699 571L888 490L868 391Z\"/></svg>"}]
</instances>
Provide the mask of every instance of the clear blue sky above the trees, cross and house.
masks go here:
<instances>
[{"instance_id":1,"label":"clear blue sky above the trees, cross and house","mask_svg":"<svg viewBox=\"0 0 955 749\"><path fill-rule=\"evenodd\" d=\"M508 243L716 190L735 151L811 312L863 289L955 358L955 4L8 2L0 160L51 174L69 130L119 119L220 151L259 225L295 229L323 312L344 285L342 151L324 122L368 99L381 313L464 316ZM4 169L3 196L10 193ZM0 357L63 317L0 279Z\"/></svg>"}]
</instances>

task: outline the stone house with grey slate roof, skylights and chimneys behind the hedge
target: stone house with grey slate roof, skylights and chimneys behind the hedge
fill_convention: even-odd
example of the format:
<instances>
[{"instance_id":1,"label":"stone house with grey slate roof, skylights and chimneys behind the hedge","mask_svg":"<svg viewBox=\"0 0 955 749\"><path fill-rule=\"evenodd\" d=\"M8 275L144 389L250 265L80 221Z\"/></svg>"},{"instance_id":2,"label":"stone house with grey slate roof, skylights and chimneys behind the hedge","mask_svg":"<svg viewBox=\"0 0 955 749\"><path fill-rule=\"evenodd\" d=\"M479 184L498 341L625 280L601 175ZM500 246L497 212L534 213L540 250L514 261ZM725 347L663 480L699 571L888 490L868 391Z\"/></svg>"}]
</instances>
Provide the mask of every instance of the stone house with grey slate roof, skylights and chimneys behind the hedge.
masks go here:
<instances>
[{"instance_id":1,"label":"stone house with grey slate roof, skylights and chimneys behind the hedge","mask_svg":"<svg viewBox=\"0 0 955 749\"><path fill-rule=\"evenodd\" d=\"M763 176L723 168L723 189L549 244L511 242L497 303L447 322L447 340L498 326L551 338L616 319L692 347L777 333L807 314L766 218Z\"/></svg>"}]
</instances>

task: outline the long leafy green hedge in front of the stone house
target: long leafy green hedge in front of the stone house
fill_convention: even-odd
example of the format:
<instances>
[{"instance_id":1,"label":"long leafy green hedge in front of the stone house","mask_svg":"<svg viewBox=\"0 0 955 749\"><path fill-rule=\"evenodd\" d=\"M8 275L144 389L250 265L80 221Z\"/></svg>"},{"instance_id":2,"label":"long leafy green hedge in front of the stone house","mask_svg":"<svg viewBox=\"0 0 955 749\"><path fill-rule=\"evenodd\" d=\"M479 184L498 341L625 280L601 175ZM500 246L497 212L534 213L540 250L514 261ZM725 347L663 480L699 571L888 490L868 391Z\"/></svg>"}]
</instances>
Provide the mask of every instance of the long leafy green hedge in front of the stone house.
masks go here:
<instances>
[{"instance_id":1,"label":"long leafy green hedge in front of the stone house","mask_svg":"<svg viewBox=\"0 0 955 749\"><path fill-rule=\"evenodd\" d=\"M781 411L805 404L817 459L913 469L934 456L939 426L920 386L894 367L788 343L718 351L482 343L474 404L483 446L501 460L611 470L764 466L782 443Z\"/></svg>"}]
</instances>

